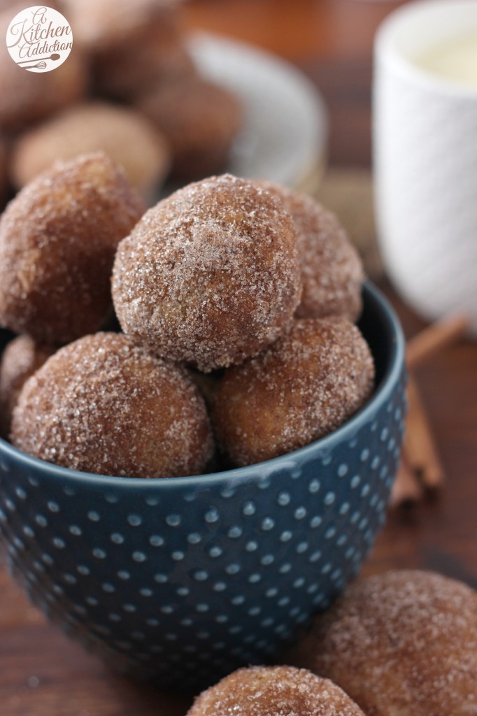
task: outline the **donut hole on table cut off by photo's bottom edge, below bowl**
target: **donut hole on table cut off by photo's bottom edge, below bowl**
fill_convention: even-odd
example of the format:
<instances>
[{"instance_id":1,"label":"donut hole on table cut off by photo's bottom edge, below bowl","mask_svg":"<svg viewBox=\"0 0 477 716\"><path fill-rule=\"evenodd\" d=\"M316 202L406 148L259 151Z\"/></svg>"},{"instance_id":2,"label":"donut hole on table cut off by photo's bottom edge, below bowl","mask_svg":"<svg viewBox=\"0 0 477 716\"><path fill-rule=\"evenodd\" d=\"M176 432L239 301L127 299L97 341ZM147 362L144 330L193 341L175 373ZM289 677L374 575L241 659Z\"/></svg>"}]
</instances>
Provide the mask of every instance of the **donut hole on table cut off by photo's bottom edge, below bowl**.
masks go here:
<instances>
[{"instance_id":1,"label":"donut hole on table cut off by photo's bottom edge, below bowl","mask_svg":"<svg viewBox=\"0 0 477 716\"><path fill-rule=\"evenodd\" d=\"M198 696L187 716L365 716L328 679L294 667L238 669Z\"/></svg>"}]
</instances>

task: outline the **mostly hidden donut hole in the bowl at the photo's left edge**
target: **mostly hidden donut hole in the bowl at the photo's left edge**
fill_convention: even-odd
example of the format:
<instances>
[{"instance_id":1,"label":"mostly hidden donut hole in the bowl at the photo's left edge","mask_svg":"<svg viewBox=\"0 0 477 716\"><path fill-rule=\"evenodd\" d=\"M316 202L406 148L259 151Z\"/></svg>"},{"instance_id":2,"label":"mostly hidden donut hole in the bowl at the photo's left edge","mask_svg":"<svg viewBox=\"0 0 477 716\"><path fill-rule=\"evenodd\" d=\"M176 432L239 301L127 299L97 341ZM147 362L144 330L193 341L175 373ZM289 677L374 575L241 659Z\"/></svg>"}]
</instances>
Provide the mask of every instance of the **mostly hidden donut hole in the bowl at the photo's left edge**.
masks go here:
<instances>
[{"instance_id":1,"label":"mostly hidden donut hole in the bowl at the photo's left edge","mask_svg":"<svg viewBox=\"0 0 477 716\"><path fill-rule=\"evenodd\" d=\"M1 437L9 437L11 413L24 383L55 351L56 348L42 346L26 335L17 336L6 346L0 362Z\"/></svg>"}]
</instances>

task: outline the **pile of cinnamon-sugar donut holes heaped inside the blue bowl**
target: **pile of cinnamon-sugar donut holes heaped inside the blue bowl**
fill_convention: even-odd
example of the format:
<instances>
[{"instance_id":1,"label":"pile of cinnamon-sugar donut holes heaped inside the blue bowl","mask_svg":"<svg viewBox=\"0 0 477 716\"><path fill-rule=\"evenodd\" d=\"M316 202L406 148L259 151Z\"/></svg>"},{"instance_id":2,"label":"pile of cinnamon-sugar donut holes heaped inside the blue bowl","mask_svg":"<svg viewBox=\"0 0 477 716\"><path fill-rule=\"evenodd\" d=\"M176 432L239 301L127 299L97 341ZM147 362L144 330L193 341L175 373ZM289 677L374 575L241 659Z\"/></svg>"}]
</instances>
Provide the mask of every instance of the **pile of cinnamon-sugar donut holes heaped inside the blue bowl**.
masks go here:
<instances>
[{"instance_id":1,"label":"pile of cinnamon-sugar donut holes heaped inside the blue bowl","mask_svg":"<svg viewBox=\"0 0 477 716\"><path fill-rule=\"evenodd\" d=\"M250 465L371 395L360 259L291 190L221 175L144 212L106 155L82 155L11 201L0 266L0 324L22 334L1 365L4 435L42 460L143 478Z\"/></svg>"}]
</instances>

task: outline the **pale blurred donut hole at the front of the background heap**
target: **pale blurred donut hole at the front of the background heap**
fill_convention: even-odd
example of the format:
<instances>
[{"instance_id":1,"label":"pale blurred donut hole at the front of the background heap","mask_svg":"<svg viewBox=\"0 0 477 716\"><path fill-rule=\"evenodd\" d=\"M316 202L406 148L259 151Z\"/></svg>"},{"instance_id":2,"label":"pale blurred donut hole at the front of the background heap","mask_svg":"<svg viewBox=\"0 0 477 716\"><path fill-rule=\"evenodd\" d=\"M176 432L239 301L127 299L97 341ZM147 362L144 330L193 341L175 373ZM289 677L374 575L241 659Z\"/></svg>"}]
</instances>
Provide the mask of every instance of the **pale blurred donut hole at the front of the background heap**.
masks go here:
<instances>
[{"instance_id":1,"label":"pale blurred donut hole at the front of the background heap","mask_svg":"<svg viewBox=\"0 0 477 716\"><path fill-rule=\"evenodd\" d=\"M120 165L145 198L157 192L169 170L168 143L147 117L129 107L85 102L19 137L11 156L11 177L21 188L54 160L97 151Z\"/></svg>"}]
</instances>

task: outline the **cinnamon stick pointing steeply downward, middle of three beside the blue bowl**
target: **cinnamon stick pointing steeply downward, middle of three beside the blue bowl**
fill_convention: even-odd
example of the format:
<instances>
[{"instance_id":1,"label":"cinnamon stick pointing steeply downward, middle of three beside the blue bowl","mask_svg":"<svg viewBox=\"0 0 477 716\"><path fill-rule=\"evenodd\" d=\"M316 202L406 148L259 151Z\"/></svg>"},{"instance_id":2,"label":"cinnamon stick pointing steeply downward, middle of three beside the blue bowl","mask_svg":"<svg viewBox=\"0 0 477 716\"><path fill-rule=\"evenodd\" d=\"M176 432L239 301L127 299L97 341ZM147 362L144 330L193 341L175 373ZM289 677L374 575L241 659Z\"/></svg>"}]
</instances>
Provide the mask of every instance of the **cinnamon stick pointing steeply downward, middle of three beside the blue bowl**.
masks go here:
<instances>
[{"instance_id":1,"label":"cinnamon stick pointing steeply downward, middle of three beside the blue bowl","mask_svg":"<svg viewBox=\"0 0 477 716\"><path fill-rule=\"evenodd\" d=\"M425 488L435 490L443 484L444 471L423 401L412 375L408 382L408 417L404 450L408 455L410 467L415 470Z\"/></svg>"}]
</instances>

